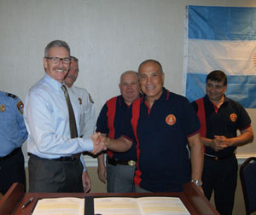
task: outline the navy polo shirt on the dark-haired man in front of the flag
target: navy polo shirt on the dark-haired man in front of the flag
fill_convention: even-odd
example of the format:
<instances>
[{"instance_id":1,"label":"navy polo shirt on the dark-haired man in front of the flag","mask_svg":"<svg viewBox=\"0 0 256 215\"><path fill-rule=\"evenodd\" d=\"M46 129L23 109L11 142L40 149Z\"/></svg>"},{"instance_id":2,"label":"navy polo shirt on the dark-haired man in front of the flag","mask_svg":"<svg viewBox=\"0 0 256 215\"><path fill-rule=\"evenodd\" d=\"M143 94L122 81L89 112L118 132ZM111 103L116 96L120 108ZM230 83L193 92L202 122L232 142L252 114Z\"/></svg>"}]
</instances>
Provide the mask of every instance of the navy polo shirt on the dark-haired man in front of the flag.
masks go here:
<instances>
[{"instance_id":1,"label":"navy polo shirt on the dark-haired man in front of the flag","mask_svg":"<svg viewBox=\"0 0 256 215\"><path fill-rule=\"evenodd\" d=\"M207 95L203 98L203 104L205 110L206 137L209 139L213 139L215 135L227 138L237 137L237 130L245 130L251 125L251 119L241 104L226 96L223 104L218 108L217 113ZM195 113L199 113L196 102L192 102L192 107L195 109ZM225 157L232 154L235 150L236 147L227 147L215 152L211 147L206 147L205 153Z\"/></svg>"}]
</instances>

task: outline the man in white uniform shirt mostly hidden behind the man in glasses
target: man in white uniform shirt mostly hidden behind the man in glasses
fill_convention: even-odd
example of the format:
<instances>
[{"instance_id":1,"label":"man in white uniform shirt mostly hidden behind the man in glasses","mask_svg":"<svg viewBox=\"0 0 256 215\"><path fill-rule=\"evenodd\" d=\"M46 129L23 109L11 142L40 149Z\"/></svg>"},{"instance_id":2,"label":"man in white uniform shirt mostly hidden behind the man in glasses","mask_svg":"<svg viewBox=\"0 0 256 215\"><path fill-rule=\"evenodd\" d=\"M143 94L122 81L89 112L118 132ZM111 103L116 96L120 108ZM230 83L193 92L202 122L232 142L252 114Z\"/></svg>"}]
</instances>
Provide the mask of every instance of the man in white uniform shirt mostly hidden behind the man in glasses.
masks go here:
<instances>
[{"instance_id":1,"label":"man in white uniform shirt mostly hidden behind the man in glasses","mask_svg":"<svg viewBox=\"0 0 256 215\"><path fill-rule=\"evenodd\" d=\"M73 85L79 76L79 59L75 56L70 56L70 59L70 67L64 81L69 95L73 94L77 98L77 101L79 101L79 108L81 109L82 113L79 122L80 136L90 137L95 131L96 126L94 102L92 101L87 90ZM83 171L82 181L84 192L88 192L90 190L90 177L86 169Z\"/></svg>"}]
</instances>

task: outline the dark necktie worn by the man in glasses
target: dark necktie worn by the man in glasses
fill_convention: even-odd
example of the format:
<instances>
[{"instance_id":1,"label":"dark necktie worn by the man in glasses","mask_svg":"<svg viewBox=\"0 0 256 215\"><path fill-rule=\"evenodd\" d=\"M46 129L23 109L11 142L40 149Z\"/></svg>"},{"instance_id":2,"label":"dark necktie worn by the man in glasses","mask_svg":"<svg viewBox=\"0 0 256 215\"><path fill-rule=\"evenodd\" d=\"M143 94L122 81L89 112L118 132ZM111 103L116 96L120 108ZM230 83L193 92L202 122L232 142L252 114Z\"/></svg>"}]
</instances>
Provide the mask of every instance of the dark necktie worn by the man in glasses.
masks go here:
<instances>
[{"instance_id":1,"label":"dark necktie worn by the man in glasses","mask_svg":"<svg viewBox=\"0 0 256 215\"><path fill-rule=\"evenodd\" d=\"M65 85L61 85L61 89L64 91L64 95L67 102L68 114L69 114L69 129L70 129L70 137L76 138L78 136L78 129L76 125L76 119L73 113L72 104L70 102L70 98L68 95L67 87Z\"/></svg>"}]
</instances>

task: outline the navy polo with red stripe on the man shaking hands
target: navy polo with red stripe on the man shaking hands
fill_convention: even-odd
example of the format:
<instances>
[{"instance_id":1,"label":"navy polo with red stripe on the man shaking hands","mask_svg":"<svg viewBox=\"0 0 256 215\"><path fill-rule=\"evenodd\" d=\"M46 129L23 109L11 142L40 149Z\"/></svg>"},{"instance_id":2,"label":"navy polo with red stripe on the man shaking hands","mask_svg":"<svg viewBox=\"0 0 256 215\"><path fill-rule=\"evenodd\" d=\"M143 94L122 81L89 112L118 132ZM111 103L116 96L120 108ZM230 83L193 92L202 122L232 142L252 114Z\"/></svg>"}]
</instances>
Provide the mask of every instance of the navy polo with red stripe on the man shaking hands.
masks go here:
<instances>
[{"instance_id":1,"label":"navy polo with red stripe on the man shaking hands","mask_svg":"<svg viewBox=\"0 0 256 215\"><path fill-rule=\"evenodd\" d=\"M190 180L188 137L200 123L189 101L165 88L151 109L145 98L133 102L122 136L137 139L134 182L152 192L180 192Z\"/></svg>"}]
</instances>

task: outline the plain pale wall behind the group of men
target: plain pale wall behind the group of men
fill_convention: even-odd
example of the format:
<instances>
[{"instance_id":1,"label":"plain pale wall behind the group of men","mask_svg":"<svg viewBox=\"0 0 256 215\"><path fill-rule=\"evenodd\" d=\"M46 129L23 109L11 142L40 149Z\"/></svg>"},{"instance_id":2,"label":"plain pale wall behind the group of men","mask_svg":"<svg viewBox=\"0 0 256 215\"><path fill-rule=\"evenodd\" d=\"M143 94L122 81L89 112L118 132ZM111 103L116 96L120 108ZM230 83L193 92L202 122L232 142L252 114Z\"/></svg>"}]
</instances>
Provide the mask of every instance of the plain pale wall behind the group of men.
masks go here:
<instances>
[{"instance_id":1,"label":"plain pale wall behind the group of men","mask_svg":"<svg viewBox=\"0 0 256 215\"><path fill-rule=\"evenodd\" d=\"M166 88L182 93L186 5L255 7L255 0L1 0L0 90L25 99L44 75L44 47L63 39L79 57L77 85L89 90L96 114L119 94L119 75L148 58L160 61ZM249 110L256 128L256 111ZM256 154L256 141L239 148ZM26 143L24 144L26 154ZM26 157L27 159L27 157ZM86 157L89 166L96 162Z\"/></svg>"}]
</instances>

